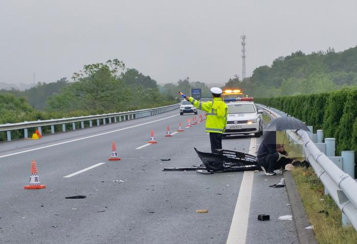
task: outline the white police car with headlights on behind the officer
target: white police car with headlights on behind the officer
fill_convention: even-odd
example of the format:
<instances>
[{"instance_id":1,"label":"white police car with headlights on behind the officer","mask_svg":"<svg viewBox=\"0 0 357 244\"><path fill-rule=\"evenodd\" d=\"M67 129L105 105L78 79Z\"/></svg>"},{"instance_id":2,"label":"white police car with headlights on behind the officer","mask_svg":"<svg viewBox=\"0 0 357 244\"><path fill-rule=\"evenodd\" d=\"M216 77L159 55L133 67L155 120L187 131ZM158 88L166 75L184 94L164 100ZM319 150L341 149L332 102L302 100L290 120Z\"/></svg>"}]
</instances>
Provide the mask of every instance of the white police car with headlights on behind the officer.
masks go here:
<instances>
[{"instance_id":1,"label":"white police car with headlights on behind the officer","mask_svg":"<svg viewBox=\"0 0 357 244\"><path fill-rule=\"evenodd\" d=\"M227 103L227 107L227 126L223 136L254 134L254 137L260 137L263 135L263 110L258 110L256 104L252 101L237 101Z\"/></svg>"}]
</instances>

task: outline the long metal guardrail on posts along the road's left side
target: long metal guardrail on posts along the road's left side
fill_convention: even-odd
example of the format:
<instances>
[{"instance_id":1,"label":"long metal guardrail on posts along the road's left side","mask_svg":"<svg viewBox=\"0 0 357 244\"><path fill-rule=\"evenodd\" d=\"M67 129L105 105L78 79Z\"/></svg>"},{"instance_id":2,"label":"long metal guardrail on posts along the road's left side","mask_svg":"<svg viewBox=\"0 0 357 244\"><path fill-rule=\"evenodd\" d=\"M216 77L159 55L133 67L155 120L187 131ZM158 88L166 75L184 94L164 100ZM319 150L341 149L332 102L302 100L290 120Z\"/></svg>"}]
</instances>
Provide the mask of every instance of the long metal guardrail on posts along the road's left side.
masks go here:
<instances>
[{"instance_id":1,"label":"long metal guardrail on posts along the road's left side","mask_svg":"<svg viewBox=\"0 0 357 244\"><path fill-rule=\"evenodd\" d=\"M97 115L89 115L89 116L81 116L81 117L71 117L71 118L60 118L60 119L48 119L48 120L37 120L37 121L24 121L22 123L14 123L14 124L4 124L0 125L0 132L7 132L7 139L11 141L11 131L15 130L24 130L24 138L28 138L28 129L38 127L39 132L41 133L41 127L43 126L51 126L51 133L55 133L55 125L62 125L62 131L65 132L66 124L72 123L72 129L75 130L75 123L81 122L81 128L84 129L84 121L89 121L89 127L92 127L92 120L96 121L96 126L100 125L100 120L102 120L102 125L106 125L106 119L109 120L109 124L112 123L112 118L114 118L114 123L117 122L117 118L119 122L125 120L131 120L136 118L147 117L159 113L168 112L174 109L177 109L180 104L173 104L169 106L157 107L157 108L149 108L149 109L141 109L135 111L125 111L120 113L107 113L107 114L97 114Z\"/></svg>"}]
</instances>

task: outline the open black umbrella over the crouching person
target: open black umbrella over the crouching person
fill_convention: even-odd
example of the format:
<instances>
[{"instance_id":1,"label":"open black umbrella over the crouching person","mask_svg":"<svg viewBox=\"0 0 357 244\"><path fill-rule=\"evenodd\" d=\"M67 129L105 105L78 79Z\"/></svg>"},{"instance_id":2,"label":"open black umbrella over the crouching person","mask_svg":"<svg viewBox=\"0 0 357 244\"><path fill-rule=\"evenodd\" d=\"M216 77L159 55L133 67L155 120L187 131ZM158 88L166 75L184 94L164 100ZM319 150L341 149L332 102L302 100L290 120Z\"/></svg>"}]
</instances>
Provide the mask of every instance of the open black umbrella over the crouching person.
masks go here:
<instances>
[{"instance_id":1,"label":"open black umbrella over the crouching person","mask_svg":"<svg viewBox=\"0 0 357 244\"><path fill-rule=\"evenodd\" d=\"M293 117L277 117L264 127L266 131L304 130L310 131L301 120Z\"/></svg>"}]
</instances>

